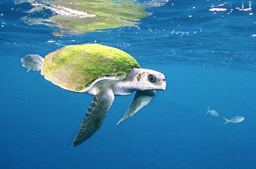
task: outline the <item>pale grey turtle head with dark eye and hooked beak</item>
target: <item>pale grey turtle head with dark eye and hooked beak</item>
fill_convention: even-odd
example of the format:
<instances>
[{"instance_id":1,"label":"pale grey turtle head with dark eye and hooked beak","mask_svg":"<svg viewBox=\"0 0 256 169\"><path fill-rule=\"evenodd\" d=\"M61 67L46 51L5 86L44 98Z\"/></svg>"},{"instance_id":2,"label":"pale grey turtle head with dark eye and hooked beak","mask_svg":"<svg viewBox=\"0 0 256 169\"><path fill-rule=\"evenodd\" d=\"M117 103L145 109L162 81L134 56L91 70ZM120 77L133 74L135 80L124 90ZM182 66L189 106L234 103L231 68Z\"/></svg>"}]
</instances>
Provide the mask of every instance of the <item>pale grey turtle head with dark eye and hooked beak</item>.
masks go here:
<instances>
[{"instance_id":1,"label":"pale grey turtle head with dark eye and hooked beak","mask_svg":"<svg viewBox=\"0 0 256 169\"><path fill-rule=\"evenodd\" d=\"M139 90L165 90L164 74L150 69L134 69L135 86Z\"/></svg>"}]
</instances>

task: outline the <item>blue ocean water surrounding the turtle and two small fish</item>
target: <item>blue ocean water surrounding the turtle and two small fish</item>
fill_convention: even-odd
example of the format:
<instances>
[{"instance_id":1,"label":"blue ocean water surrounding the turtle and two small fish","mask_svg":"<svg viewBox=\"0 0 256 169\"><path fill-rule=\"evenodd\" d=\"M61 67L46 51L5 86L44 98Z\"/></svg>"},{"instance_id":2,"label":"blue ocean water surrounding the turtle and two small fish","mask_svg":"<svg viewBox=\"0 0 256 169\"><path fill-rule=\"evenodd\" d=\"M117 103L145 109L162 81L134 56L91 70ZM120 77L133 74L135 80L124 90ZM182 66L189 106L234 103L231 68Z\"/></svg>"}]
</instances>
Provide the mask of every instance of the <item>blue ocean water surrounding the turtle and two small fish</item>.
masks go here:
<instances>
[{"instance_id":1,"label":"blue ocean water surrounding the turtle and two small fish","mask_svg":"<svg viewBox=\"0 0 256 169\"><path fill-rule=\"evenodd\" d=\"M253 1L168 1L147 9L137 27L67 37L22 22L30 8L0 1L0 168L256 167ZM72 148L92 96L27 72L20 58L90 43L131 54L164 73L167 87L120 125L134 94L116 96L100 130ZM222 125L234 116L245 120Z\"/></svg>"}]
</instances>

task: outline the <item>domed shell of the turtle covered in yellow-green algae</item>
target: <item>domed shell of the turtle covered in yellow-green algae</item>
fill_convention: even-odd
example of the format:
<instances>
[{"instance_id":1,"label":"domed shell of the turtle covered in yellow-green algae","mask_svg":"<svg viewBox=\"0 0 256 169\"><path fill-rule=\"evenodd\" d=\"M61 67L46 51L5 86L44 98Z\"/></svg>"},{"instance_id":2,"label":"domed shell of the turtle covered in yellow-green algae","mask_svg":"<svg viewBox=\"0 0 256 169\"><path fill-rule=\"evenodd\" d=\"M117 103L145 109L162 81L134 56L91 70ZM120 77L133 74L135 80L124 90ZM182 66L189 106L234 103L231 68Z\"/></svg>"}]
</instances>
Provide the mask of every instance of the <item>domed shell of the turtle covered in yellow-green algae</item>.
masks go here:
<instances>
[{"instance_id":1,"label":"domed shell of the turtle covered in yellow-green algae","mask_svg":"<svg viewBox=\"0 0 256 169\"><path fill-rule=\"evenodd\" d=\"M103 79L124 79L140 68L129 54L98 44L63 47L45 57L41 74L55 85L74 92L87 92L92 83Z\"/></svg>"}]
</instances>

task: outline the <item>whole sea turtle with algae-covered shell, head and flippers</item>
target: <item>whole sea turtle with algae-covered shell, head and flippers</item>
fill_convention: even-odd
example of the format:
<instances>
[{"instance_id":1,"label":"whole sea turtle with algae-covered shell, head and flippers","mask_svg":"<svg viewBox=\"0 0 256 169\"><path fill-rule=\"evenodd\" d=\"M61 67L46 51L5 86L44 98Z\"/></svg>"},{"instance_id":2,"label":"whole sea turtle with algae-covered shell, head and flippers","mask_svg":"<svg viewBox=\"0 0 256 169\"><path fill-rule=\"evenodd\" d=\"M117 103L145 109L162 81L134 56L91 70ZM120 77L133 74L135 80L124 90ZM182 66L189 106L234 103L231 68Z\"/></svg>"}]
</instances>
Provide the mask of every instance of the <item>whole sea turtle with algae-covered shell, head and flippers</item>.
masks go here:
<instances>
[{"instance_id":1,"label":"whole sea turtle with algae-covered shell, head and flippers","mask_svg":"<svg viewBox=\"0 0 256 169\"><path fill-rule=\"evenodd\" d=\"M100 128L114 95L130 95L136 91L119 124L147 105L155 96L155 90L166 87L162 73L142 69L131 55L99 44L66 46L45 58L29 54L21 62L28 71L40 71L47 80L63 89L94 95L72 147Z\"/></svg>"}]
</instances>

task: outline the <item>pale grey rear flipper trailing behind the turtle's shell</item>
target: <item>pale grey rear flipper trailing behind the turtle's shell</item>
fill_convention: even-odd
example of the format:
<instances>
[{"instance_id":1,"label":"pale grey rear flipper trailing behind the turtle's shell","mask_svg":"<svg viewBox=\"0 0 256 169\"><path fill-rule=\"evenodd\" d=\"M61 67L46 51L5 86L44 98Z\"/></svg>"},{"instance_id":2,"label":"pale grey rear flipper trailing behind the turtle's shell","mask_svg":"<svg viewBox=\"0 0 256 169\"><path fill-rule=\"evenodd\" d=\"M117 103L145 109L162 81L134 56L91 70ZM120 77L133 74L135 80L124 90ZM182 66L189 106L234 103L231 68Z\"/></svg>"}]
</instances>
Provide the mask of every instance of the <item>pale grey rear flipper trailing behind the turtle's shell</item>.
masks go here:
<instances>
[{"instance_id":1,"label":"pale grey rear flipper trailing behind the turtle's shell","mask_svg":"<svg viewBox=\"0 0 256 169\"><path fill-rule=\"evenodd\" d=\"M42 62L44 58L39 55L27 55L26 57L20 59L22 66L27 68L28 71L40 72L42 67Z\"/></svg>"}]
</instances>

